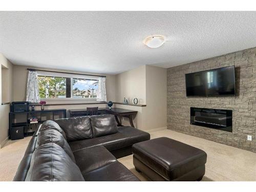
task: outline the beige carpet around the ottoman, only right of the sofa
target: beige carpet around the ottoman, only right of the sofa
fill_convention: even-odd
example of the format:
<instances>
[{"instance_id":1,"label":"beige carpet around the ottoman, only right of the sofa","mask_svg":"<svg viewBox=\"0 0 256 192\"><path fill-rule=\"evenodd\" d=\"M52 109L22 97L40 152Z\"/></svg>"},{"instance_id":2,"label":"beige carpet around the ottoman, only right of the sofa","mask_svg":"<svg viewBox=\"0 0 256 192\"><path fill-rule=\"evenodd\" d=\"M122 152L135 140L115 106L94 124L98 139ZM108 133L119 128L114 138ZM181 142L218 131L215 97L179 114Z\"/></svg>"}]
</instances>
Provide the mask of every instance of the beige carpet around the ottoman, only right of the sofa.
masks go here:
<instances>
[{"instance_id":1,"label":"beige carpet around the ottoman, only right of the sofa","mask_svg":"<svg viewBox=\"0 0 256 192\"><path fill-rule=\"evenodd\" d=\"M256 181L256 153L171 130L151 133L151 139L158 137L169 137L205 151L207 163L202 181ZM136 172L132 155L118 160L140 180L147 180Z\"/></svg>"}]
</instances>

